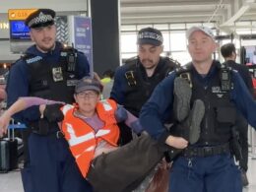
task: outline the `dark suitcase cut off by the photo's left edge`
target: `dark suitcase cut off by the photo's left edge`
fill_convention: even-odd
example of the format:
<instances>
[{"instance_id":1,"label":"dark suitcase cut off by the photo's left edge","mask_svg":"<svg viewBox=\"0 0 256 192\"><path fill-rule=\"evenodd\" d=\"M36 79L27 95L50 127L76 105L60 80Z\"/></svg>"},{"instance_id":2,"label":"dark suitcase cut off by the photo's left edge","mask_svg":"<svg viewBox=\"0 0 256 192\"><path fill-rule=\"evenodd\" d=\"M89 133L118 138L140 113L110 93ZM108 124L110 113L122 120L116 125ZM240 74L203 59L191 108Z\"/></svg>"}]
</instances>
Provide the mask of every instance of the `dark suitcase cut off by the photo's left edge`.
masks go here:
<instances>
[{"instance_id":1,"label":"dark suitcase cut off by the photo's left edge","mask_svg":"<svg viewBox=\"0 0 256 192\"><path fill-rule=\"evenodd\" d=\"M0 140L0 172L10 170L9 141Z\"/></svg>"}]
</instances>

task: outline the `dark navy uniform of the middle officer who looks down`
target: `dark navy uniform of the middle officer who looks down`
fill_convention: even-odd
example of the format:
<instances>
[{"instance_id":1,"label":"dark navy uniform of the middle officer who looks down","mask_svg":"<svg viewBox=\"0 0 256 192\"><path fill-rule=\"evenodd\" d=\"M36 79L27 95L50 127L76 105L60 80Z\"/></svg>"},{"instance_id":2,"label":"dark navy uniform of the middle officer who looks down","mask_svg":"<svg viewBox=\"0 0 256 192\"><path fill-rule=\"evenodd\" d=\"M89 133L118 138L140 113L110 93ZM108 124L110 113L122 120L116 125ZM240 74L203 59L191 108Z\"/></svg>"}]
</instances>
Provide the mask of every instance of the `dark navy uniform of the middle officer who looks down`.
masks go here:
<instances>
[{"instance_id":1,"label":"dark navy uniform of the middle officer who looks down","mask_svg":"<svg viewBox=\"0 0 256 192\"><path fill-rule=\"evenodd\" d=\"M153 76L148 77L140 59L132 58L116 70L110 98L138 117L142 105L151 96L156 86L175 67L174 61L167 57L160 57ZM120 123L119 127L121 144L124 145L132 140L131 129L124 123Z\"/></svg>"}]
</instances>

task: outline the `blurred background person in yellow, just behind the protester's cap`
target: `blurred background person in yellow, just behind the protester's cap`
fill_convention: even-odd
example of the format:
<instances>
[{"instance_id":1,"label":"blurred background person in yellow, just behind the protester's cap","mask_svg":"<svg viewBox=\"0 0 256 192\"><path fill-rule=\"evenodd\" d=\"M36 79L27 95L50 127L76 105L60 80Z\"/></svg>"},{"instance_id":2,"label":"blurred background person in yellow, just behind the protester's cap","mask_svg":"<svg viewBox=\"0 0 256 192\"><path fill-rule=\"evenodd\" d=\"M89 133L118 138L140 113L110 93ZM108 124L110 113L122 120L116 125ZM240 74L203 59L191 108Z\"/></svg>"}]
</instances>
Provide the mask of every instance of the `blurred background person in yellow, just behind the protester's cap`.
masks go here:
<instances>
[{"instance_id":1,"label":"blurred background person in yellow, just behind the protester's cap","mask_svg":"<svg viewBox=\"0 0 256 192\"><path fill-rule=\"evenodd\" d=\"M114 83L114 71L112 70L106 70L103 73L103 78L101 79L101 83L103 85L103 91L102 91L102 97L108 98L110 96L113 83Z\"/></svg>"}]
</instances>

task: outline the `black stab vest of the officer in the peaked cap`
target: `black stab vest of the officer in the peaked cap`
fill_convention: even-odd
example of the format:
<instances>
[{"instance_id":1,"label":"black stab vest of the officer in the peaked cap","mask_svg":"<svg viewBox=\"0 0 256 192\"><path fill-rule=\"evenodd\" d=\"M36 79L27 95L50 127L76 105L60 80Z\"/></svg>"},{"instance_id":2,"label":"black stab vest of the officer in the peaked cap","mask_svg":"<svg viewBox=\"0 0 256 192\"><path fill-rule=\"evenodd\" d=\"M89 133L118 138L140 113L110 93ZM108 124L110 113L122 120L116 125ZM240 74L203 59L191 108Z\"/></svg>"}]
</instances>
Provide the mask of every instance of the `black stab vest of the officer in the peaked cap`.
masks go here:
<instances>
[{"instance_id":1,"label":"black stab vest of the officer in the peaked cap","mask_svg":"<svg viewBox=\"0 0 256 192\"><path fill-rule=\"evenodd\" d=\"M72 49L60 52L58 63L48 63L34 55L25 55L23 59L29 65L30 96L61 100L67 103L74 101L74 89L77 76L74 71L68 71L67 56Z\"/></svg>"}]
</instances>

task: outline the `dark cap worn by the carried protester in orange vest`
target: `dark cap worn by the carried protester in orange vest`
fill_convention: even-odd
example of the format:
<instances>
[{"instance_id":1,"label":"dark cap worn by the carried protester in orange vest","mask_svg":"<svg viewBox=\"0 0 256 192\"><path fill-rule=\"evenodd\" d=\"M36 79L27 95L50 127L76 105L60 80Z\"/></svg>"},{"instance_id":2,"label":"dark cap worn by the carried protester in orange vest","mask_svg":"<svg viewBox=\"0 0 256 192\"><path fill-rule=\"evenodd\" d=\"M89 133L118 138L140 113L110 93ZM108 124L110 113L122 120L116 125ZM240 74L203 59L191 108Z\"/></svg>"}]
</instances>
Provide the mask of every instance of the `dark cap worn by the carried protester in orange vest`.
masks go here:
<instances>
[{"instance_id":1,"label":"dark cap worn by the carried protester in orange vest","mask_svg":"<svg viewBox=\"0 0 256 192\"><path fill-rule=\"evenodd\" d=\"M90 77L85 77L78 81L78 84L75 88L75 92L77 94L89 90L96 91L99 94L102 92L102 86L97 80Z\"/></svg>"}]
</instances>

